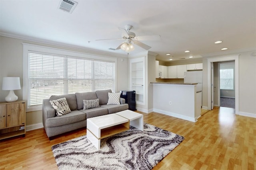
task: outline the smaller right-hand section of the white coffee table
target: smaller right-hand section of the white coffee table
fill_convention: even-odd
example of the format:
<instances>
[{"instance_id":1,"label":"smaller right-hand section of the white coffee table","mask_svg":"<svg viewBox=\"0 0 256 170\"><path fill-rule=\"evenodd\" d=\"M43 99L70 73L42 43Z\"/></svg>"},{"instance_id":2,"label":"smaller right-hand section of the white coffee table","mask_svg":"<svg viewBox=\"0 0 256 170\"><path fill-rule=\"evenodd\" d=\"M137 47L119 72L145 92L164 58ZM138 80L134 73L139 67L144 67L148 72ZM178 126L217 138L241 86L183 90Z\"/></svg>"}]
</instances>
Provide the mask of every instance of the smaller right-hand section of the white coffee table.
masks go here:
<instances>
[{"instance_id":1,"label":"smaller right-hand section of the white coffee table","mask_svg":"<svg viewBox=\"0 0 256 170\"><path fill-rule=\"evenodd\" d=\"M137 129L140 129L141 131L143 131L144 120L143 120L142 114L136 113L135 111L131 111L131 110L119 111L116 114L122 117L125 117L126 119L129 119L130 126L136 127Z\"/></svg>"}]
</instances>

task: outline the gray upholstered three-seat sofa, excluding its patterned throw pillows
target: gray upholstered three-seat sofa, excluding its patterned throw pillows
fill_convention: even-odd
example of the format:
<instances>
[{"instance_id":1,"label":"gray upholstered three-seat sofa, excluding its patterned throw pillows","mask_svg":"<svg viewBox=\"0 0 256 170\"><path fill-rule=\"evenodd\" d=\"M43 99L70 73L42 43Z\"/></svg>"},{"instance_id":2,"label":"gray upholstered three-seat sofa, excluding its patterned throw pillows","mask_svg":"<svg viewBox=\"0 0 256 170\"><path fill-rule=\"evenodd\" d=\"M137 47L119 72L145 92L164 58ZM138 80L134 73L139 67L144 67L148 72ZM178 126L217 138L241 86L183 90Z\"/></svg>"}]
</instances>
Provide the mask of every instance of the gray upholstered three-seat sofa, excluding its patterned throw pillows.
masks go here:
<instances>
[{"instance_id":1,"label":"gray upholstered three-seat sofa, excluding its patterned throw pillows","mask_svg":"<svg viewBox=\"0 0 256 170\"><path fill-rule=\"evenodd\" d=\"M51 140L52 137L86 127L86 119L110 113L116 113L128 109L128 104L120 98L120 104L107 104L108 92L111 90L98 90L95 92L84 92L75 94L66 94L61 96L51 96L49 99L44 99L42 104L43 125L47 136ZM71 112L62 116L56 116L55 110L50 103L50 100L66 98ZM83 109L83 100L99 99L100 107Z\"/></svg>"}]
</instances>

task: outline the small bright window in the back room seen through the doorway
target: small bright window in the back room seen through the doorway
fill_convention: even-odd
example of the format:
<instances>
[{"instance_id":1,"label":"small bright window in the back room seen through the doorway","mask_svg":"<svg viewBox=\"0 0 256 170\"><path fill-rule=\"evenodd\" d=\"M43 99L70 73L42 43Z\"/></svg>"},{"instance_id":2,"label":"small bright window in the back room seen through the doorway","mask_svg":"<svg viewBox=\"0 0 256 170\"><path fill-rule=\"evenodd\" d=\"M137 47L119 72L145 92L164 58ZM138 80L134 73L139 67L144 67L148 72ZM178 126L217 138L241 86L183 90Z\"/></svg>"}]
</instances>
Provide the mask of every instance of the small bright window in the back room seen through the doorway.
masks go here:
<instances>
[{"instance_id":1,"label":"small bright window in the back room seen through the doorway","mask_svg":"<svg viewBox=\"0 0 256 170\"><path fill-rule=\"evenodd\" d=\"M234 69L220 69L220 89L234 90Z\"/></svg>"}]
</instances>

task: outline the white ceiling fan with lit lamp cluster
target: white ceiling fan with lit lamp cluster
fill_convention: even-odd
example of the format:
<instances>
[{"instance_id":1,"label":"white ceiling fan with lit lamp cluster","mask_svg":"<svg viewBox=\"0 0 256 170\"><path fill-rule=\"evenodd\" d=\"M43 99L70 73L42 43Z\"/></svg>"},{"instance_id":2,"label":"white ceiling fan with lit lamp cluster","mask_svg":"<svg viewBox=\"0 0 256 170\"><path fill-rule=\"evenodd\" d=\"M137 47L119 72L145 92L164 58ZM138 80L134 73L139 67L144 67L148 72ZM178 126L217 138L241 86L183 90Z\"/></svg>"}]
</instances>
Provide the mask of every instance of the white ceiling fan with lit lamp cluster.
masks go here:
<instances>
[{"instance_id":1,"label":"white ceiling fan with lit lamp cluster","mask_svg":"<svg viewBox=\"0 0 256 170\"><path fill-rule=\"evenodd\" d=\"M140 47L142 47L145 50L150 49L151 47L140 42L140 41L161 41L160 35L145 35L145 36L136 36L135 33L131 32L130 29L132 29L132 25L125 25L125 29L118 27L120 31L122 31L122 39L125 41L121 43L115 50L122 49L126 52L130 52L134 50L134 46L132 45L132 42ZM122 40L118 39L118 40ZM116 39L97 39L96 41L100 40L116 40Z\"/></svg>"}]
</instances>

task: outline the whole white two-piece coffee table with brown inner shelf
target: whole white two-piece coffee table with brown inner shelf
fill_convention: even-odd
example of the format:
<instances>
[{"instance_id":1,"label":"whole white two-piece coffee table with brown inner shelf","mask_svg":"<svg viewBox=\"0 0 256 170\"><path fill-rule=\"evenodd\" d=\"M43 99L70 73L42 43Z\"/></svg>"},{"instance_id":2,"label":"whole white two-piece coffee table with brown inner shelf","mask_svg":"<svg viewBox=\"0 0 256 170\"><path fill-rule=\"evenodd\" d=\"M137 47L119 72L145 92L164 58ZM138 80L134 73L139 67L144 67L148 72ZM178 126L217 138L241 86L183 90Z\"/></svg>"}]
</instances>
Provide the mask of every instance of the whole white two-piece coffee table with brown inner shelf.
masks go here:
<instances>
[{"instance_id":1,"label":"whole white two-piece coffee table with brown inner shelf","mask_svg":"<svg viewBox=\"0 0 256 170\"><path fill-rule=\"evenodd\" d=\"M143 115L130 110L87 119L87 139L100 149L100 139L130 129L130 125L143 131Z\"/></svg>"}]
</instances>

